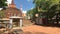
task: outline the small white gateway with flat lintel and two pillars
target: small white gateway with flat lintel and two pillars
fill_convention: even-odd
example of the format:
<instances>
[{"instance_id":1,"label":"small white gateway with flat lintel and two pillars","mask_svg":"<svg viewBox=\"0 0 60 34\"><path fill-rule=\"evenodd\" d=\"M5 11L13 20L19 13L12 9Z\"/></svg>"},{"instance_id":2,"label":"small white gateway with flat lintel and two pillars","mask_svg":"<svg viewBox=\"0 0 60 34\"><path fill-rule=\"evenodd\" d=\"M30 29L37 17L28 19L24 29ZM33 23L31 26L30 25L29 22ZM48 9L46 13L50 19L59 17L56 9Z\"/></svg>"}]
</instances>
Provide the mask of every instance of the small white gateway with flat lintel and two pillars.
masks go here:
<instances>
[{"instance_id":1,"label":"small white gateway with flat lintel and two pillars","mask_svg":"<svg viewBox=\"0 0 60 34\"><path fill-rule=\"evenodd\" d=\"M22 17L12 16L10 17L10 28L13 27L22 27Z\"/></svg>"}]
</instances>

